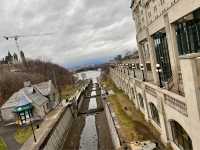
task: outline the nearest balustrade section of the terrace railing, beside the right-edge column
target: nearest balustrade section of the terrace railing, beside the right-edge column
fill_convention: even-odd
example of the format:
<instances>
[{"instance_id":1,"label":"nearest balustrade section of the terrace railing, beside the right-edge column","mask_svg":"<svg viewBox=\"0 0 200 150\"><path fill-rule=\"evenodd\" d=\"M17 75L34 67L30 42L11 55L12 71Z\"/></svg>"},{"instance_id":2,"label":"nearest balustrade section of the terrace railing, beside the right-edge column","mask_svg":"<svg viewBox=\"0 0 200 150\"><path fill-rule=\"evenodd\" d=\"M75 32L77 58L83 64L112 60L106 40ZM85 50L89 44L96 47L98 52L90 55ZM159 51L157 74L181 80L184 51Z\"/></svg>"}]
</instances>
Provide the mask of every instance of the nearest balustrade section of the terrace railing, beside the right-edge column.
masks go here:
<instances>
[{"instance_id":1,"label":"nearest balustrade section of the terrace railing, beside the right-edge column","mask_svg":"<svg viewBox=\"0 0 200 150\"><path fill-rule=\"evenodd\" d=\"M181 114L188 116L187 113L187 105L186 103L175 99L169 95L165 95L165 103L170 106L171 108L175 109L176 111L180 112Z\"/></svg>"}]
</instances>

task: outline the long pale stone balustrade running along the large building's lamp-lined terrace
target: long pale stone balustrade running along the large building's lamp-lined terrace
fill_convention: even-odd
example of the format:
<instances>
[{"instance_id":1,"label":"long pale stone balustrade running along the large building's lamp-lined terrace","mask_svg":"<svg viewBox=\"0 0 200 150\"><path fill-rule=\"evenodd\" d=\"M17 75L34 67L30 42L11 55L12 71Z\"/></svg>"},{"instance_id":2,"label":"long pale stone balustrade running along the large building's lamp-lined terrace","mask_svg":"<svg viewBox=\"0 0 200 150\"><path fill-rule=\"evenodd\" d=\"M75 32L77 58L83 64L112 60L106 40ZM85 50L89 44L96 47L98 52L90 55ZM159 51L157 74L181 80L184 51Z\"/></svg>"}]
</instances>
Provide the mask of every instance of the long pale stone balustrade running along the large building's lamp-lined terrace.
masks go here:
<instances>
[{"instance_id":1,"label":"long pale stone balustrade running along the large building's lamp-lined terrace","mask_svg":"<svg viewBox=\"0 0 200 150\"><path fill-rule=\"evenodd\" d=\"M147 80L147 82L143 82L142 72L140 70L135 71L136 78L134 78L133 72L131 72L130 75L124 75L116 73L115 70L112 70L112 73L113 76L116 76L115 80L121 80L120 82L126 82L126 84L134 82L134 86L143 90L146 95L153 96L157 100L162 97L161 99L163 99L164 107L170 107L171 110L174 110L181 116L188 116L185 97L176 94L176 92L160 88L157 85L153 84L153 82L151 81L148 82ZM124 87L120 88L123 90Z\"/></svg>"}]
</instances>

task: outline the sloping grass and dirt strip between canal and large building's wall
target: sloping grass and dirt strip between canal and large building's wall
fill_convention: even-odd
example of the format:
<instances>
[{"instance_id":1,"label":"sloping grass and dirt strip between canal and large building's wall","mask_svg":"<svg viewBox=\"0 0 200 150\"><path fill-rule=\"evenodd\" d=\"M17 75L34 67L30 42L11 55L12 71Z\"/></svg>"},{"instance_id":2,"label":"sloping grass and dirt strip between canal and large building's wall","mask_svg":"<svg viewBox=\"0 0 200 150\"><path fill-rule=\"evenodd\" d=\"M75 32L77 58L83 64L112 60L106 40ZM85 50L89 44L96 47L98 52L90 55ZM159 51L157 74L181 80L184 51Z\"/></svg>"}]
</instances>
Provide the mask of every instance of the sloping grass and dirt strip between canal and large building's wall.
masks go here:
<instances>
[{"instance_id":1,"label":"sloping grass and dirt strip between canal and large building's wall","mask_svg":"<svg viewBox=\"0 0 200 150\"><path fill-rule=\"evenodd\" d=\"M160 133L144 119L144 115L136 109L134 103L121 90L117 89L111 80L103 82L107 89L112 89L115 95L109 96L111 107L119 121L121 141L151 140L159 143L162 150L166 149L160 141Z\"/></svg>"}]
</instances>

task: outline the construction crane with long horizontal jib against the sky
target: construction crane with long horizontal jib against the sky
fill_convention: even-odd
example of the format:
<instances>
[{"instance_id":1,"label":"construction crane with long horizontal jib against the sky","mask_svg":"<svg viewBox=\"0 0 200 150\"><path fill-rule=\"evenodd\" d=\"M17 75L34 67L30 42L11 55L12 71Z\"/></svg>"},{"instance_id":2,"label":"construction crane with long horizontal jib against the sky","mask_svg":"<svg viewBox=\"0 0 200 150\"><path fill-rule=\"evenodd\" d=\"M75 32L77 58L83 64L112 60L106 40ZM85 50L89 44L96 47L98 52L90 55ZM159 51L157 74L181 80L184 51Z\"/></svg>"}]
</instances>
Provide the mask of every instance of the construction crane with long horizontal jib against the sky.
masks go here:
<instances>
[{"instance_id":1,"label":"construction crane with long horizontal jib against the sky","mask_svg":"<svg viewBox=\"0 0 200 150\"><path fill-rule=\"evenodd\" d=\"M6 40L15 40L15 44L17 47L17 51L19 52L20 58L22 63L24 63L24 65L26 65L26 60L24 58L24 54L22 53L22 51L20 51L20 47L19 47L19 38L26 38L26 37L41 37L41 36L49 36L49 35L53 35L55 33L42 33L42 34L26 34L26 35L12 35L12 36L3 36L4 39Z\"/></svg>"}]
</instances>

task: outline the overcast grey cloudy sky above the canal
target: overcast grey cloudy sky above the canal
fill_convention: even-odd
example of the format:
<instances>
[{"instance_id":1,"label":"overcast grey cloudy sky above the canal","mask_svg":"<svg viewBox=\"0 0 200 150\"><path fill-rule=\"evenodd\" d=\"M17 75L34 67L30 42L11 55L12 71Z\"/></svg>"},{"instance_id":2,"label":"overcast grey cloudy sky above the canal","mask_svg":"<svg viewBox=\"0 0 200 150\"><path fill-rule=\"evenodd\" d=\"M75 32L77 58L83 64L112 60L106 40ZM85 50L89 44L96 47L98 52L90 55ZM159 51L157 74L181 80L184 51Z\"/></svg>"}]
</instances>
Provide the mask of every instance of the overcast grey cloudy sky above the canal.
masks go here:
<instances>
[{"instance_id":1,"label":"overcast grey cloudy sky above the canal","mask_svg":"<svg viewBox=\"0 0 200 150\"><path fill-rule=\"evenodd\" d=\"M19 39L27 57L66 67L99 63L136 47L130 0L1 0L0 36ZM16 51L0 38L0 58Z\"/></svg>"}]
</instances>

